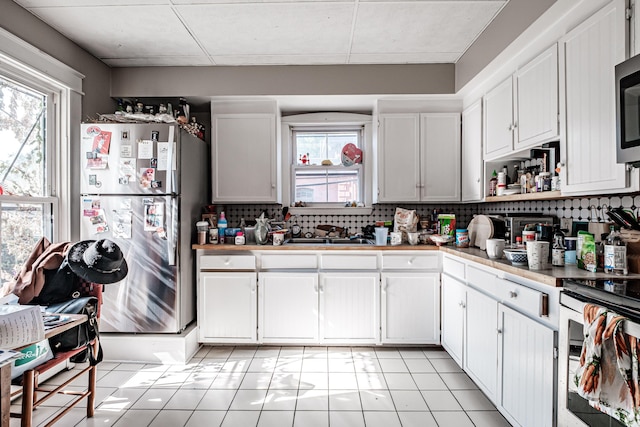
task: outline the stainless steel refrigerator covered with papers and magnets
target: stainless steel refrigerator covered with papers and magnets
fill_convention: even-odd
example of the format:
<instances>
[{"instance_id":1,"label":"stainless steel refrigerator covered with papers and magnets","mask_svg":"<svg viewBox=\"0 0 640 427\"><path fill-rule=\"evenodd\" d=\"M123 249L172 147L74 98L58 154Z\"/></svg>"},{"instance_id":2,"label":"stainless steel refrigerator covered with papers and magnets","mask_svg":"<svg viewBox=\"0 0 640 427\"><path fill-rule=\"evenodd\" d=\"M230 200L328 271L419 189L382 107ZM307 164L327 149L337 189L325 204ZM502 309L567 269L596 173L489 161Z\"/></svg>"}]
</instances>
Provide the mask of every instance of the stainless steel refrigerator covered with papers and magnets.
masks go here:
<instances>
[{"instance_id":1,"label":"stainless steel refrigerator covered with papers and magnets","mask_svg":"<svg viewBox=\"0 0 640 427\"><path fill-rule=\"evenodd\" d=\"M195 319L195 222L207 144L177 124L83 124L82 240L110 239L129 274L105 285L103 332L178 333Z\"/></svg>"}]
</instances>

